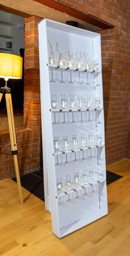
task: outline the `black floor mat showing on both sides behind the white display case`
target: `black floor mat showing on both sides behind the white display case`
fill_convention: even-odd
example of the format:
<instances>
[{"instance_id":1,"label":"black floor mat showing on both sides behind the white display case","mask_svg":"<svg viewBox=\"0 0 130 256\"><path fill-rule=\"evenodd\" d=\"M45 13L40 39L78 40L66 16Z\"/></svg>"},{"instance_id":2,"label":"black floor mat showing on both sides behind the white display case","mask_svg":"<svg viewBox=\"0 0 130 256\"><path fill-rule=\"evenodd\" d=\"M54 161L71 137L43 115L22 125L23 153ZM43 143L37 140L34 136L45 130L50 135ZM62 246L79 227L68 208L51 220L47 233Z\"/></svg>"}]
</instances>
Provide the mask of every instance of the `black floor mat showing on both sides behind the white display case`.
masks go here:
<instances>
[{"instance_id":1,"label":"black floor mat showing on both sides behind the white display case","mask_svg":"<svg viewBox=\"0 0 130 256\"><path fill-rule=\"evenodd\" d=\"M121 179L121 175L106 171L106 183L109 185L113 181ZM16 182L16 178L13 179ZM21 186L30 191L35 196L39 197L42 201L44 198L44 176L43 171L34 171L26 175L20 176Z\"/></svg>"}]
</instances>

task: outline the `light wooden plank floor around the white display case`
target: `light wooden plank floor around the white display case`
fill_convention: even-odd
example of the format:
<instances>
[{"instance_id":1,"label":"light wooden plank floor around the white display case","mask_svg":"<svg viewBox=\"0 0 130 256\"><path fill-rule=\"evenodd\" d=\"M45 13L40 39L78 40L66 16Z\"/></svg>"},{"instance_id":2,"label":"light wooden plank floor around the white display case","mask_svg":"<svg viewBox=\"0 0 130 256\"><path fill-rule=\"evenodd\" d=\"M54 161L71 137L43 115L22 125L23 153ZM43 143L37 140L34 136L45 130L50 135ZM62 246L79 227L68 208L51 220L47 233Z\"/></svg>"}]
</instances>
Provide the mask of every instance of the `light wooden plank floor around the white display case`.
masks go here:
<instances>
[{"instance_id":1,"label":"light wooden plank floor around the white display case","mask_svg":"<svg viewBox=\"0 0 130 256\"><path fill-rule=\"evenodd\" d=\"M130 160L107 170L123 175L107 186L109 215L62 239L52 234L44 202L23 189L25 203L20 205L15 182L0 181L0 255L129 256Z\"/></svg>"}]
</instances>

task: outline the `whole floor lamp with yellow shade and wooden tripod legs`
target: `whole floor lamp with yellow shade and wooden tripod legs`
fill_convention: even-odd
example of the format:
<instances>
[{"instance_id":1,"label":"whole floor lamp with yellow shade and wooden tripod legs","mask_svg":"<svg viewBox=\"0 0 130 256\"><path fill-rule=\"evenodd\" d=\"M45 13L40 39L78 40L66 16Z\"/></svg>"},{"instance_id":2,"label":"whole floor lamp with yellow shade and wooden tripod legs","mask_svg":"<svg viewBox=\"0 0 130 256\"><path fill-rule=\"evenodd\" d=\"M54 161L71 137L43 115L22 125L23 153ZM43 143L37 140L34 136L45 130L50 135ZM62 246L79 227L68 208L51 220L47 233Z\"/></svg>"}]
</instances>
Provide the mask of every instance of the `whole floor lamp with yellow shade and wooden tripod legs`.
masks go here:
<instances>
[{"instance_id":1,"label":"whole floor lamp with yellow shade and wooden tripod legs","mask_svg":"<svg viewBox=\"0 0 130 256\"><path fill-rule=\"evenodd\" d=\"M23 62L23 59L20 56L17 56L14 54L0 53L0 77L4 78L4 80L6 81L5 86L0 88L0 103L2 100L2 96L5 95L10 144L12 149L12 155L14 158L15 174L17 177L20 203L23 203L23 197L21 192L21 182L20 182L20 176L19 176L18 150L17 150L16 135L15 135L15 127L14 127L12 97L11 97L10 88L7 87L7 81L9 79L21 79L22 62Z\"/></svg>"}]
</instances>

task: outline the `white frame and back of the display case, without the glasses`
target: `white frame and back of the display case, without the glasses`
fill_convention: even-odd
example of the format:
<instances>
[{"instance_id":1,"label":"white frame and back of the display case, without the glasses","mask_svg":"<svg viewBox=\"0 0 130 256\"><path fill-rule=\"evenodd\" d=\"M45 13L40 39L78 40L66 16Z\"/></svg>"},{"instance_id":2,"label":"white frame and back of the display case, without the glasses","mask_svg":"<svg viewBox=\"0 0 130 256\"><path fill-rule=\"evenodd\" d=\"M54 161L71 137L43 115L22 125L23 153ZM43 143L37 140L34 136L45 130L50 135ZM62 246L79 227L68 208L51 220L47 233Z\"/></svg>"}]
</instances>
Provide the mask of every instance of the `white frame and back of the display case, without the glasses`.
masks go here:
<instances>
[{"instance_id":1,"label":"white frame and back of the display case, without the glasses","mask_svg":"<svg viewBox=\"0 0 130 256\"><path fill-rule=\"evenodd\" d=\"M59 51L87 51L89 57L99 60L99 70L93 74L95 83L100 83L100 86L82 86L82 85L67 85L63 83L50 82L50 70L55 67L48 64L48 45L47 40L51 43L57 41ZM93 33L87 30L74 28L52 20L42 20L39 23L39 57L40 57L40 90L41 90L41 120L42 120L42 145L44 158L44 188L45 188L45 207L51 212L52 229L57 237L63 237L67 234L86 226L87 224L98 220L102 216L107 215L107 194L106 194L106 163L105 163L105 136L104 136L104 108L102 95L102 74L101 74L101 39L100 34ZM59 69L60 71L60 69ZM73 70L68 70L68 72ZM78 71L79 72L79 71ZM82 70L80 71L82 73ZM91 74L91 72L88 72ZM100 116L100 123L53 123L53 111L51 109L51 95L57 93L88 93L94 97L101 98L101 109L91 111L94 112L95 118ZM57 114L63 114L57 113ZM69 113L70 115L70 113ZM74 174L74 171L88 168L97 168L96 160L82 161L74 165L56 166L56 157L60 157L61 153L55 154L53 149L53 137L57 135L70 135L73 133L96 132L102 134L102 145L94 147L97 154L101 156L101 169L104 172L104 179L98 184L99 194L94 194L91 198L86 198L84 201L77 203L68 203L66 207L58 205L59 195L57 193L57 177L64 176L67 173ZM84 149L86 150L86 149ZM93 149L91 149L93 150ZM67 152L66 152L67 154ZM66 156L64 154L63 157ZM68 152L69 154L69 152ZM72 154L72 153L71 153ZM76 154L76 153L75 153ZM82 153L81 153L82 154ZM90 185L88 185L90 186ZM83 189L82 189L83 190ZM71 192L70 192L71 194Z\"/></svg>"}]
</instances>

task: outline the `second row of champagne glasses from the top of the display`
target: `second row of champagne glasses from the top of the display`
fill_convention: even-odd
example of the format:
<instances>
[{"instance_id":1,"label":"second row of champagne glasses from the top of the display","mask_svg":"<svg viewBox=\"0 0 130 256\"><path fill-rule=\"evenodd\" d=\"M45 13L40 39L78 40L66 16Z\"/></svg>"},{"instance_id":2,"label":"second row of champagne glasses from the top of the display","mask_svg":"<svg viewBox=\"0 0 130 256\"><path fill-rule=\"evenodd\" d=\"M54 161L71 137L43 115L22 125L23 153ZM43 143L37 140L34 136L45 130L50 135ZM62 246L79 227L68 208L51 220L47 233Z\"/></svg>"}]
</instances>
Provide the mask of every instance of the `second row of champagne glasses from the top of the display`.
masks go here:
<instances>
[{"instance_id":1,"label":"second row of champagne glasses from the top of the display","mask_svg":"<svg viewBox=\"0 0 130 256\"><path fill-rule=\"evenodd\" d=\"M53 110L59 111L72 111L72 122L79 122L79 113L74 115L73 111L89 111L89 109L95 111L96 109L101 109L100 97L89 97L88 95L51 95L51 108ZM90 118L90 113L83 115L80 113L80 122L90 122L95 121L95 113L92 113ZM76 118L77 117L77 118ZM63 112L62 123L69 122L69 113L65 114ZM61 123L58 119L56 120L56 114L54 113L53 123Z\"/></svg>"}]
</instances>

